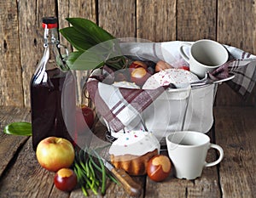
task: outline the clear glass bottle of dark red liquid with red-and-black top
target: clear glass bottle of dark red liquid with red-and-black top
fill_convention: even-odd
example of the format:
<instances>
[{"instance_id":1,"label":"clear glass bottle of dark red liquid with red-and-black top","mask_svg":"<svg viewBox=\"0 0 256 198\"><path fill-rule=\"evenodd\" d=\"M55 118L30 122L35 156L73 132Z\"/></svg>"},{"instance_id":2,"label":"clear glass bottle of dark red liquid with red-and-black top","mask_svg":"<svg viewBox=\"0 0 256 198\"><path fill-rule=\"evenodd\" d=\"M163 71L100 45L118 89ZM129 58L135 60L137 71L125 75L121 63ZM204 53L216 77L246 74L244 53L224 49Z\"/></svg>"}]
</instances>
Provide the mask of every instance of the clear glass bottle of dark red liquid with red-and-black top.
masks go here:
<instances>
[{"instance_id":1,"label":"clear glass bottle of dark red liquid with red-and-black top","mask_svg":"<svg viewBox=\"0 0 256 198\"><path fill-rule=\"evenodd\" d=\"M61 103L64 89L66 95L75 98L73 75L61 56L57 18L43 18L43 28L44 54L30 84L33 150L42 139L50 136L72 141L63 119Z\"/></svg>"}]
</instances>

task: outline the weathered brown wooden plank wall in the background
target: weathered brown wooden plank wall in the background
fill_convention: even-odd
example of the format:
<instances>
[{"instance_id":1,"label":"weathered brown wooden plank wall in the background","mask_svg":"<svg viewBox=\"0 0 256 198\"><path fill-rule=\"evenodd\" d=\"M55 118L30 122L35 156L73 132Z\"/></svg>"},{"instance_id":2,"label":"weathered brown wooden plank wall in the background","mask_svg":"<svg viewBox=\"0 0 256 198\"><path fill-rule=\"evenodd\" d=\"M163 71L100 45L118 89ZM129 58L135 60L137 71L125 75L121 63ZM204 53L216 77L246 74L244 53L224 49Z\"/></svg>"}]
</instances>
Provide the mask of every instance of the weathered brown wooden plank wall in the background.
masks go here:
<instances>
[{"instance_id":1,"label":"weathered brown wooden plank wall in the background","mask_svg":"<svg viewBox=\"0 0 256 198\"><path fill-rule=\"evenodd\" d=\"M42 54L41 19L95 21L115 37L154 42L217 40L256 54L256 8L252 0L22 0L0 1L0 105L30 106L29 82ZM63 38L61 42L66 43ZM256 88L244 101L226 85L217 105L256 104Z\"/></svg>"}]
</instances>

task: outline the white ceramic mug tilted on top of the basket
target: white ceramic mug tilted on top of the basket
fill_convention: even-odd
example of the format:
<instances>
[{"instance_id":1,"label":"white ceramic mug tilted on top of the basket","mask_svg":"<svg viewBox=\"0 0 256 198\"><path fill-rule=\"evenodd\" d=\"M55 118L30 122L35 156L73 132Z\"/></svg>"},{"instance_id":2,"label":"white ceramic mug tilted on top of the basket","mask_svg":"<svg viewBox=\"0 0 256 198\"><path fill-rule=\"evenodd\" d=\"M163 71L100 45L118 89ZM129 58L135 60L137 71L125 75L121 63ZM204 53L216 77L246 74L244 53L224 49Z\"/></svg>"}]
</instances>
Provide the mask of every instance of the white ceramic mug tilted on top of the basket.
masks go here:
<instances>
[{"instance_id":1,"label":"white ceramic mug tilted on top of the basket","mask_svg":"<svg viewBox=\"0 0 256 198\"><path fill-rule=\"evenodd\" d=\"M190 47L189 56L184 47ZM199 77L204 77L207 71L213 71L229 59L229 53L218 42L202 39L194 43L182 42L179 52L183 59L189 63L189 70Z\"/></svg>"}]
</instances>

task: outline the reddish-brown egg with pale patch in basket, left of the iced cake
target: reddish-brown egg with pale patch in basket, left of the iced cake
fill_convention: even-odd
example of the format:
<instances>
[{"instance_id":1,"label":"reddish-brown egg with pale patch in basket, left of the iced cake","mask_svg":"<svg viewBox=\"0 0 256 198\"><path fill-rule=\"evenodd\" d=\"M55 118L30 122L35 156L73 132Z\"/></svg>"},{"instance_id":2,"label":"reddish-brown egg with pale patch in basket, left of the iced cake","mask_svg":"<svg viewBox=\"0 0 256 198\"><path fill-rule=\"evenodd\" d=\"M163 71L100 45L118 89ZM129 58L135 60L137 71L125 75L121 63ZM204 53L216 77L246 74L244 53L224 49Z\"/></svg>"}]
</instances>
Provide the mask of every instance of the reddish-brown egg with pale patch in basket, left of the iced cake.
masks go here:
<instances>
[{"instance_id":1,"label":"reddish-brown egg with pale patch in basket, left of the iced cake","mask_svg":"<svg viewBox=\"0 0 256 198\"><path fill-rule=\"evenodd\" d=\"M131 82L135 82L138 86L143 86L150 74L143 68L138 67L131 71Z\"/></svg>"}]
</instances>

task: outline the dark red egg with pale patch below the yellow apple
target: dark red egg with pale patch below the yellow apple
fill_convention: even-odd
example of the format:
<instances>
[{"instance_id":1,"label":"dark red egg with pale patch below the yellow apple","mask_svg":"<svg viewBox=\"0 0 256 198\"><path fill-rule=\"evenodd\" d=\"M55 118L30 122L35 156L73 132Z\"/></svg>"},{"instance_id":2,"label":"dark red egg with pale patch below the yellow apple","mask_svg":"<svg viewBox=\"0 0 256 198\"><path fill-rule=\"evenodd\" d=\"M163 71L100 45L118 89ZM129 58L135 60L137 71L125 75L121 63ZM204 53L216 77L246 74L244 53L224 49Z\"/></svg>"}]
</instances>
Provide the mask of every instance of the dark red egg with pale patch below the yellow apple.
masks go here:
<instances>
[{"instance_id":1,"label":"dark red egg with pale patch below the yellow apple","mask_svg":"<svg viewBox=\"0 0 256 198\"><path fill-rule=\"evenodd\" d=\"M78 183L77 175L70 168L61 168L55 173L55 187L62 191L71 191Z\"/></svg>"}]
</instances>

